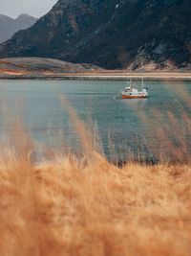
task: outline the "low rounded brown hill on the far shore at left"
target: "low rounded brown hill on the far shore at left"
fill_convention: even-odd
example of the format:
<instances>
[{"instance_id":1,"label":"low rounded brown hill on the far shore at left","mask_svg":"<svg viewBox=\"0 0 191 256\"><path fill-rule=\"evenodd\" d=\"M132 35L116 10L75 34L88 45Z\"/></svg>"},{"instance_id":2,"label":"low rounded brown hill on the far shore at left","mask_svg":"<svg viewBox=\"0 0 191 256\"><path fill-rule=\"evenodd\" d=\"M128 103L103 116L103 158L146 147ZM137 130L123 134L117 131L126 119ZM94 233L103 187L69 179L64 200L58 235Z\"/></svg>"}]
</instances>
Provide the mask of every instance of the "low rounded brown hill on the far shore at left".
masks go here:
<instances>
[{"instance_id":1,"label":"low rounded brown hill on the far shore at left","mask_svg":"<svg viewBox=\"0 0 191 256\"><path fill-rule=\"evenodd\" d=\"M64 74L93 73L102 69L92 64L74 64L52 58L1 58L0 79L50 78Z\"/></svg>"}]
</instances>

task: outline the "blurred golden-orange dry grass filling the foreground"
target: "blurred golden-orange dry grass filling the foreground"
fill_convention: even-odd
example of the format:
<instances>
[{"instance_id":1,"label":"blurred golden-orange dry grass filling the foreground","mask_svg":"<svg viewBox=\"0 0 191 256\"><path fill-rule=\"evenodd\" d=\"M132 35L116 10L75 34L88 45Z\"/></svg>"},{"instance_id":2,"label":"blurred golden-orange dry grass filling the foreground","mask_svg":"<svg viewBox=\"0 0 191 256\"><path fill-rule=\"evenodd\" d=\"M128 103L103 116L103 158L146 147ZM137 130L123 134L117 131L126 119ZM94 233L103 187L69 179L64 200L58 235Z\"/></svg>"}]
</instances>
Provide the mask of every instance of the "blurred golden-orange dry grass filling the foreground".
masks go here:
<instances>
[{"instance_id":1,"label":"blurred golden-orange dry grass filling the foreground","mask_svg":"<svg viewBox=\"0 0 191 256\"><path fill-rule=\"evenodd\" d=\"M190 256L191 166L0 159L0 255Z\"/></svg>"}]
</instances>

